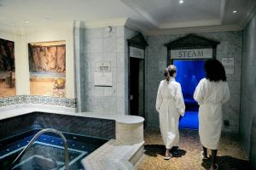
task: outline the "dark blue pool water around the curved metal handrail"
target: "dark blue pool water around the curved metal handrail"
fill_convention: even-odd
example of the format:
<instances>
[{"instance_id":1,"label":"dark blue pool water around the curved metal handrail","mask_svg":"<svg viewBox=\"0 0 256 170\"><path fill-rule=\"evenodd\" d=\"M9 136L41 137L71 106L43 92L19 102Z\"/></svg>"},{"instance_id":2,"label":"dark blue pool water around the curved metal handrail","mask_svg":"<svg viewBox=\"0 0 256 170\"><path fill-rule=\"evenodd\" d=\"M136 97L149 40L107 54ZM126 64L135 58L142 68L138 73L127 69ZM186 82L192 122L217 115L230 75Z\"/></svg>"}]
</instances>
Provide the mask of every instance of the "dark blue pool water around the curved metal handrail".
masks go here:
<instances>
[{"instance_id":1,"label":"dark blue pool water around the curved metal handrail","mask_svg":"<svg viewBox=\"0 0 256 170\"><path fill-rule=\"evenodd\" d=\"M9 169L20 151L26 147L26 144L37 132L38 130L32 130L0 141L1 170ZM81 160L108 141L71 133L63 134L68 143L69 169L83 169ZM62 139L53 133L41 134L31 148L17 161L14 169L65 169L65 150Z\"/></svg>"}]
</instances>

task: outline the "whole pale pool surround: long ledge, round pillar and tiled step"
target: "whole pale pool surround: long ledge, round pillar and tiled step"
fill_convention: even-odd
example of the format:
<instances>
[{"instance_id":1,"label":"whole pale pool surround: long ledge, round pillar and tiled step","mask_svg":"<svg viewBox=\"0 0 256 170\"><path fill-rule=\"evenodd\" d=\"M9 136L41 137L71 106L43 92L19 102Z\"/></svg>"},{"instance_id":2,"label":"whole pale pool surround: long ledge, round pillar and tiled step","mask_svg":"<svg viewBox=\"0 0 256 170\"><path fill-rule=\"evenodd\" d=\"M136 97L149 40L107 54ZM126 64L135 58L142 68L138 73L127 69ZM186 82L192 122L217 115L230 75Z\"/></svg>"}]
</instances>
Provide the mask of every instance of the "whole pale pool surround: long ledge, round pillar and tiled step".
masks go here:
<instances>
[{"instance_id":1,"label":"whole pale pool surround: long ledge, round pillar and tiled step","mask_svg":"<svg viewBox=\"0 0 256 170\"><path fill-rule=\"evenodd\" d=\"M38 108L19 108L17 111L23 111L22 114L29 114L33 112L40 112L41 114L47 114ZM21 115L22 115L21 114ZM36 113L37 114L37 113ZM78 116L84 118L95 118L95 119L107 119L108 121L115 122L115 137L116 139L111 139L106 144L103 144L101 148L101 154L97 150L92 152L88 159L84 159L84 167L86 170L90 169L117 169L117 167L125 167L126 169L134 169L136 162L143 156L143 117L139 116L124 116L116 115L111 113L70 113L64 111L50 111L48 114L55 114L59 116ZM3 117L2 119L8 119L15 117L14 115ZM1 120L1 116L0 116ZM36 121L35 121L36 122ZM39 121L40 122L40 121ZM32 123L33 125L35 123ZM105 127L106 128L106 127ZM102 153L105 153L100 159ZM88 160L88 161L87 161ZM100 161L101 160L101 161ZM103 166L103 167L102 167ZM111 167L111 168L109 168Z\"/></svg>"}]
</instances>

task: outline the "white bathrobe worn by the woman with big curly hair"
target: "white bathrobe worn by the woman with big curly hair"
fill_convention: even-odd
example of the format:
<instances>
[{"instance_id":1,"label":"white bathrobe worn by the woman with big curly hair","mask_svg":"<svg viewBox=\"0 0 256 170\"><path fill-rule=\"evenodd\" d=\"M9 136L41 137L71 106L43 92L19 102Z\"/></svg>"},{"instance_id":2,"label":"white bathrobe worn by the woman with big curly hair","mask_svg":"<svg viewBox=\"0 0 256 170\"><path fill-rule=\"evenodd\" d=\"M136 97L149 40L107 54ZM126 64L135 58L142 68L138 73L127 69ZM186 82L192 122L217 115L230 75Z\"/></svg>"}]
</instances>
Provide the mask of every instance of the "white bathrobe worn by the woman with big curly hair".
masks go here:
<instances>
[{"instance_id":1,"label":"white bathrobe worn by the woman with big curly hair","mask_svg":"<svg viewBox=\"0 0 256 170\"><path fill-rule=\"evenodd\" d=\"M199 106L199 136L201 144L218 150L222 128L222 105L230 99L227 82L210 82L201 79L195 88L194 99Z\"/></svg>"}]
</instances>

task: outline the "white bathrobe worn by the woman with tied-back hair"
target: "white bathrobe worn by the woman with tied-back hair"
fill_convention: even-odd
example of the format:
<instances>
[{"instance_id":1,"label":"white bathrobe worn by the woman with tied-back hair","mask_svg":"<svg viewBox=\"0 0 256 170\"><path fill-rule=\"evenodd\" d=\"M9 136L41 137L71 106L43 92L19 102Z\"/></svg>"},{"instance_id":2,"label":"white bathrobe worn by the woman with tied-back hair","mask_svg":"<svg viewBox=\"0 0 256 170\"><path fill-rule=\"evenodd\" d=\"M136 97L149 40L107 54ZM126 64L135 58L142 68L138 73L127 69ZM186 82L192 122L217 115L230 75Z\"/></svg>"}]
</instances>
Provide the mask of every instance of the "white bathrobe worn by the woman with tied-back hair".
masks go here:
<instances>
[{"instance_id":1,"label":"white bathrobe worn by the woman with tied-back hair","mask_svg":"<svg viewBox=\"0 0 256 170\"><path fill-rule=\"evenodd\" d=\"M178 145L178 120L185 111L182 89L174 78L160 82L155 107L159 112L161 136L166 149L171 149Z\"/></svg>"}]
</instances>

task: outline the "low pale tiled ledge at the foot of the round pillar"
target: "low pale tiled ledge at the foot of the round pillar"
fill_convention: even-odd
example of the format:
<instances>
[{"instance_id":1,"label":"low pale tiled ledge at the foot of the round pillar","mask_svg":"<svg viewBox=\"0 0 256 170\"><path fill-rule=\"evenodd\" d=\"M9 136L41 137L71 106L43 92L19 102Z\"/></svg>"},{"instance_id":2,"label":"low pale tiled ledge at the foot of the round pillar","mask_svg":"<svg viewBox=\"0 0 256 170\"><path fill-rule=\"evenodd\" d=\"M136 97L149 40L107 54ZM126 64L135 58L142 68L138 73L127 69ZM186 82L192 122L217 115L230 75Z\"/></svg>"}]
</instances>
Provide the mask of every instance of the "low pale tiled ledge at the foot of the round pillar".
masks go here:
<instances>
[{"instance_id":1,"label":"low pale tiled ledge at the foot of the round pillar","mask_svg":"<svg viewBox=\"0 0 256 170\"><path fill-rule=\"evenodd\" d=\"M143 156L144 142L138 144L118 144L109 140L100 148L86 156L82 164L86 170L133 170L137 161Z\"/></svg>"}]
</instances>

